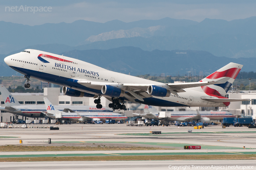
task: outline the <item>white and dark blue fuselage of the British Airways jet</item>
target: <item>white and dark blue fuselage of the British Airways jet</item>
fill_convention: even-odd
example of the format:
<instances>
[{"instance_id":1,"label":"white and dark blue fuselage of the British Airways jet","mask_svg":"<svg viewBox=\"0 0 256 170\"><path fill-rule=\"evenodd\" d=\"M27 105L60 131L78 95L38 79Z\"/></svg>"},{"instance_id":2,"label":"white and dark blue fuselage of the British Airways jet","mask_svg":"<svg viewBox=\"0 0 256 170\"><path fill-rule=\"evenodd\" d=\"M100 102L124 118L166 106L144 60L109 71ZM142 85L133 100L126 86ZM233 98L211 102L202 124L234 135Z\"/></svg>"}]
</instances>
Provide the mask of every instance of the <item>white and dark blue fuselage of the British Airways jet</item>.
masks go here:
<instances>
[{"instance_id":1,"label":"white and dark blue fuselage of the British Airways jet","mask_svg":"<svg viewBox=\"0 0 256 170\"><path fill-rule=\"evenodd\" d=\"M66 56L59 56L39 50L27 49L28 52L20 52L5 58L5 63L16 71L29 75L42 81L51 82L61 86L79 90L82 92L103 95L101 86L88 84L83 86L78 80L88 80L104 83L130 83L130 84L159 84L152 80L139 78L109 71L96 65ZM146 93L146 92L145 92ZM201 97L209 97L201 87L186 88L179 96L171 94L170 97L149 96L144 101L135 100L138 103L162 107L218 107L223 103L213 103L202 100Z\"/></svg>"}]
</instances>

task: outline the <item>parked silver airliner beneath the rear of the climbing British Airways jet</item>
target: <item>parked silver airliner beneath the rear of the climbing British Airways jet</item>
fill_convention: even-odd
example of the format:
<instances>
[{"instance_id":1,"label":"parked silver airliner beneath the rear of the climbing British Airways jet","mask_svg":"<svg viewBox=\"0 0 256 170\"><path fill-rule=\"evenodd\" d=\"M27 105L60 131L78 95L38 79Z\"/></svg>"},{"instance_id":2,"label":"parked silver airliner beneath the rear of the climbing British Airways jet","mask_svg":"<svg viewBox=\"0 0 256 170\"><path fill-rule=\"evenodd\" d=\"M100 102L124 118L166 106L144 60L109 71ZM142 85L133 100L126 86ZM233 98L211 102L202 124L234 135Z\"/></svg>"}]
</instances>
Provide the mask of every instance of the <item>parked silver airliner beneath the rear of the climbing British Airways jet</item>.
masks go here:
<instances>
[{"instance_id":1,"label":"parked silver airliner beneath the rear of the climbing British Airways jet","mask_svg":"<svg viewBox=\"0 0 256 170\"><path fill-rule=\"evenodd\" d=\"M199 121L210 122L210 120L223 120L227 117L236 117L229 111L157 111L154 106L145 105L144 113L137 114L148 119L164 121Z\"/></svg>"}]
</instances>

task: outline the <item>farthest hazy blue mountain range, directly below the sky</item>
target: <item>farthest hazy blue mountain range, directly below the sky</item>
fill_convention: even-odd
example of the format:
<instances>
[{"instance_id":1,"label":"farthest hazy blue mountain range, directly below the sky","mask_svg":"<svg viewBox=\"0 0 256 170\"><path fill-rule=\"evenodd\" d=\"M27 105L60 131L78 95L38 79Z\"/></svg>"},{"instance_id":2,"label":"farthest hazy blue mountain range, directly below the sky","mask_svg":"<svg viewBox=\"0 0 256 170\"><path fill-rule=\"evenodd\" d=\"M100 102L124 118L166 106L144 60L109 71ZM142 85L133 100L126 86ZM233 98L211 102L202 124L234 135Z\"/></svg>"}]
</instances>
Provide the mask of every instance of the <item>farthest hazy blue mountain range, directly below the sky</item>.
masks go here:
<instances>
[{"instance_id":1,"label":"farthest hazy blue mountain range, directly below the sky","mask_svg":"<svg viewBox=\"0 0 256 170\"><path fill-rule=\"evenodd\" d=\"M163 18L125 23L77 20L73 23L22 25L0 22L0 54L27 47L46 51L112 49L202 50L229 58L255 57L256 17L239 20L206 18L202 22ZM54 44L54 45L52 45Z\"/></svg>"}]
</instances>

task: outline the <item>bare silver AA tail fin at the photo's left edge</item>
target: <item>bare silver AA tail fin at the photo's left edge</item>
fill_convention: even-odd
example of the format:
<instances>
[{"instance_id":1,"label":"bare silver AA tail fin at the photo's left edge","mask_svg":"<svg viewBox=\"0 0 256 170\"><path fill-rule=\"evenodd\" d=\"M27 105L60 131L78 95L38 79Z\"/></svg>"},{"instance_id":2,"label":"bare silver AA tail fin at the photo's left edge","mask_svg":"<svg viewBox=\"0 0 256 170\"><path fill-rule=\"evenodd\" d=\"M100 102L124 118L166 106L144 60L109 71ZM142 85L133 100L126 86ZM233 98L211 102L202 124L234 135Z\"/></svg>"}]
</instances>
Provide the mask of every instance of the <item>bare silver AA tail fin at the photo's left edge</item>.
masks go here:
<instances>
[{"instance_id":1,"label":"bare silver AA tail fin at the photo's left edge","mask_svg":"<svg viewBox=\"0 0 256 170\"><path fill-rule=\"evenodd\" d=\"M0 92L2 94L5 106L18 106L20 103L11 95L11 93L5 88L5 86L0 85Z\"/></svg>"}]
</instances>

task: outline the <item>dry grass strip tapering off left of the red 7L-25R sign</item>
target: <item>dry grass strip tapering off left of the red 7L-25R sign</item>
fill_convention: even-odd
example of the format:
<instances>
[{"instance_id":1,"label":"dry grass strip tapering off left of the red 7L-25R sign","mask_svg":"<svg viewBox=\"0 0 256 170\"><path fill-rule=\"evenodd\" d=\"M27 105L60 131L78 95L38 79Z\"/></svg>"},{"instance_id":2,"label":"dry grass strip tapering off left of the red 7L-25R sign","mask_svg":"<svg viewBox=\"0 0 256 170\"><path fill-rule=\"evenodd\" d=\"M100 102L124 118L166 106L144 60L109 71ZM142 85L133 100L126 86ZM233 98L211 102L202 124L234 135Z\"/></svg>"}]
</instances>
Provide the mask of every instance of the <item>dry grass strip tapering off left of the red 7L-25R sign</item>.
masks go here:
<instances>
[{"instance_id":1,"label":"dry grass strip tapering off left of the red 7L-25R sign","mask_svg":"<svg viewBox=\"0 0 256 170\"><path fill-rule=\"evenodd\" d=\"M172 148L155 148L155 147L116 147L116 146L23 146L23 145L6 145L0 146L1 152L21 152L21 151L76 151L76 150L176 150Z\"/></svg>"}]
</instances>

